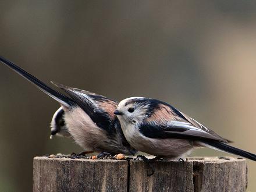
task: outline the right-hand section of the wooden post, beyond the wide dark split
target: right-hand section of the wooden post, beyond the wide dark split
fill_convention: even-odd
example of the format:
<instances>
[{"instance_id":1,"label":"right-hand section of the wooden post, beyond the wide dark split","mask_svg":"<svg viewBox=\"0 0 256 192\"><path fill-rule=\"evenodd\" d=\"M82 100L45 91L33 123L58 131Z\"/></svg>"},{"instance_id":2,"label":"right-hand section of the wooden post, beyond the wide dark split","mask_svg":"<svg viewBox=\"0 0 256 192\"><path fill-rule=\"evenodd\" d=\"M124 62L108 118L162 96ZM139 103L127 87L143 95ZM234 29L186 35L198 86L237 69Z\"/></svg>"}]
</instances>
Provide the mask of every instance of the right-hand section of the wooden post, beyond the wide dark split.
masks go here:
<instances>
[{"instance_id":1,"label":"right-hand section of the wooden post, beyond the wide dark split","mask_svg":"<svg viewBox=\"0 0 256 192\"><path fill-rule=\"evenodd\" d=\"M193 164L195 191L246 191L247 165L244 159L205 158Z\"/></svg>"}]
</instances>

